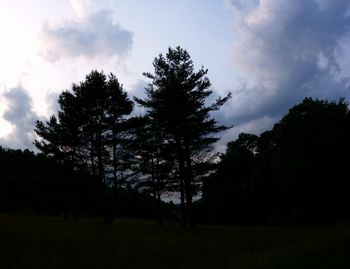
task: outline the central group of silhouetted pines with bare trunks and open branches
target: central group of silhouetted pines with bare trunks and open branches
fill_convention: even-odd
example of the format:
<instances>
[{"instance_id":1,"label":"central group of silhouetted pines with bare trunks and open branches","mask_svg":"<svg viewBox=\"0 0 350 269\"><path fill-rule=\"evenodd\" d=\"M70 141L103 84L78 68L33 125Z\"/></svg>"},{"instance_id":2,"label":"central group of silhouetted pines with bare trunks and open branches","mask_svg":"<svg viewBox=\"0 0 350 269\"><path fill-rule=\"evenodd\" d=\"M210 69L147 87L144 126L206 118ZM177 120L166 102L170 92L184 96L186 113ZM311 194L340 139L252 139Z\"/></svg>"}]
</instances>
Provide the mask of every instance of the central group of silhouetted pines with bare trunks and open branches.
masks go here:
<instances>
[{"instance_id":1,"label":"central group of silhouetted pines with bare trunks and open branches","mask_svg":"<svg viewBox=\"0 0 350 269\"><path fill-rule=\"evenodd\" d=\"M220 139L215 134L227 129L210 113L230 94L207 105L208 70L195 71L180 47L160 54L153 66L153 74L144 73L151 81L147 98L135 98L145 115L131 117L133 102L115 75L92 71L60 95L57 116L37 121L35 145L57 163L89 173L106 199L125 182L149 191L158 207L165 192L180 193L182 221L192 224L193 196L213 170L213 145ZM103 210L114 203L107 199Z\"/></svg>"}]
</instances>

